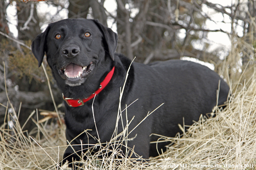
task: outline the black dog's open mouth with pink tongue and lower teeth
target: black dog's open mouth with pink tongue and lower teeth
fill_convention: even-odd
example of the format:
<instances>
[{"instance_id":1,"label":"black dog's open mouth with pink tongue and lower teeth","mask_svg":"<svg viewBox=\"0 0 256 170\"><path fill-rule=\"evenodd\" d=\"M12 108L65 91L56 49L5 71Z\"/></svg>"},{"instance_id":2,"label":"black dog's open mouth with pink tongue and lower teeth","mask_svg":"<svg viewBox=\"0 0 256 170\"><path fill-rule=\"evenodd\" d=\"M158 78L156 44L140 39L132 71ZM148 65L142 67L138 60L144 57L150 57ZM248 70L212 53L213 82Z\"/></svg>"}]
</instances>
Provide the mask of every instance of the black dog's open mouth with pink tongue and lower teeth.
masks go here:
<instances>
[{"instance_id":1,"label":"black dog's open mouth with pink tongue and lower teeth","mask_svg":"<svg viewBox=\"0 0 256 170\"><path fill-rule=\"evenodd\" d=\"M70 63L65 68L59 70L59 75L62 79L77 80L86 77L94 69L94 62L88 66L79 66L78 64Z\"/></svg>"}]
</instances>

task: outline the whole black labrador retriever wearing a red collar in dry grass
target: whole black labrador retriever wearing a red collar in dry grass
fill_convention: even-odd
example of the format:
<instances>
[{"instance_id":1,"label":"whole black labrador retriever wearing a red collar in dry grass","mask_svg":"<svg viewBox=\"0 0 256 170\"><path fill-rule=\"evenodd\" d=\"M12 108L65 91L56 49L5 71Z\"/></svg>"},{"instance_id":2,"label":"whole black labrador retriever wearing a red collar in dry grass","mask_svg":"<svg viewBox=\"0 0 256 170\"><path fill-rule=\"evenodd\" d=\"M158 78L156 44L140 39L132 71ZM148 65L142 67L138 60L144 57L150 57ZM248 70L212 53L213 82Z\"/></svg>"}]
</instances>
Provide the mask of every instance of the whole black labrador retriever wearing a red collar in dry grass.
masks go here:
<instances>
[{"instance_id":1,"label":"whole black labrador retriever wearing a red collar in dry grass","mask_svg":"<svg viewBox=\"0 0 256 170\"><path fill-rule=\"evenodd\" d=\"M117 40L117 34L98 21L64 19L49 24L32 42L39 67L46 52L66 101L66 138L71 145L78 145L73 146L76 153L70 146L66 149L64 161L80 159L81 143L85 144L85 152L90 146L86 144L109 142L116 129L120 88L131 64L128 58L115 53ZM178 124L191 125L201 114L212 112L214 106L224 104L228 93L228 85L217 73L194 62L169 60L149 65L133 62L121 100L121 109L132 103L127 108L128 132L131 132L128 138L132 138L127 146L143 159L159 155L168 143L158 143L156 147L150 142L157 141L159 136L150 134L175 137L181 132ZM125 112L122 112L124 121L118 121L117 134L126 125ZM87 129L92 130L88 131L91 136L82 133ZM121 149L125 155L125 147Z\"/></svg>"}]
</instances>

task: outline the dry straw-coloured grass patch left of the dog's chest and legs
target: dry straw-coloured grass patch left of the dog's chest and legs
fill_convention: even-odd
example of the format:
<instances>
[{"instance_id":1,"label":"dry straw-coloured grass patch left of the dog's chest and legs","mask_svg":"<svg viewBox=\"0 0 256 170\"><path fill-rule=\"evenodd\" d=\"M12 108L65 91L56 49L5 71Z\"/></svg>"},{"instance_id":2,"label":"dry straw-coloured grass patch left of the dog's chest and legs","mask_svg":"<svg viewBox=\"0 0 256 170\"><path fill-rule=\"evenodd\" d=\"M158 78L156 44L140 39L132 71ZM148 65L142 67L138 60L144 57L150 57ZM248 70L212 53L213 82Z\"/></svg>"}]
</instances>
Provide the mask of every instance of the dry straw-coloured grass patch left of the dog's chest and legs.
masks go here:
<instances>
[{"instance_id":1,"label":"dry straw-coloured grass patch left of the dog's chest and legs","mask_svg":"<svg viewBox=\"0 0 256 170\"><path fill-rule=\"evenodd\" d=\"M12 118L12 114L6 114L8 121ZM36 122L34 120L34 122ZM5 127L3 124L0 127L0 169L17 169L17 170L34 170L34 169L54 169L58 159L62 158L65 143L64 127L56 128L54 124L38 125L38 131L41 132L41 137L29 137L26 131L22 131L19 122L12 129ZM36 130L37 131L37 130ZM34 142L37 139L37 143ZM56 147L57 146L57 147ZM49 154L49 156L46 154Z\"/></svg>"}]
</instances>

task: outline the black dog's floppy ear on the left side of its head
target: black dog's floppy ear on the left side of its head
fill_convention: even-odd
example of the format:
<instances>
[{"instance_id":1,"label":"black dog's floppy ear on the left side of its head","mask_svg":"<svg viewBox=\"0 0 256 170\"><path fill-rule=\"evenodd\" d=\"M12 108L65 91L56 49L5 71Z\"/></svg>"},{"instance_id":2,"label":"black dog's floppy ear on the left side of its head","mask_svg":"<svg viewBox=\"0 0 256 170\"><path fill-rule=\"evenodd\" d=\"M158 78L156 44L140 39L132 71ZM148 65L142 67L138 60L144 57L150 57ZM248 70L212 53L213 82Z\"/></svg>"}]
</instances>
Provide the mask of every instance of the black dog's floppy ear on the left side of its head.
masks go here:
<instances>
[{"instance_id":1,"label":"black dog's floppy ear on the left side of its head","mask_svg":"<svg viewBox=\"0 0 256 170\"><path fill-rule=\"evenodd\" d=\"M46 50L46 39L47 39L49 30L50 30L50 26L48 26L43 33L40 33L39 35L37 35L37 37L33 40L31 44L31 50L34 57L38 61L38 67L41 66L44 59L44 52Z\"/></svg>"}]
</instances>

